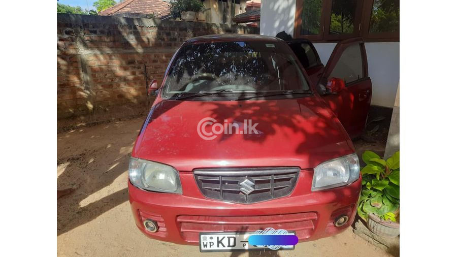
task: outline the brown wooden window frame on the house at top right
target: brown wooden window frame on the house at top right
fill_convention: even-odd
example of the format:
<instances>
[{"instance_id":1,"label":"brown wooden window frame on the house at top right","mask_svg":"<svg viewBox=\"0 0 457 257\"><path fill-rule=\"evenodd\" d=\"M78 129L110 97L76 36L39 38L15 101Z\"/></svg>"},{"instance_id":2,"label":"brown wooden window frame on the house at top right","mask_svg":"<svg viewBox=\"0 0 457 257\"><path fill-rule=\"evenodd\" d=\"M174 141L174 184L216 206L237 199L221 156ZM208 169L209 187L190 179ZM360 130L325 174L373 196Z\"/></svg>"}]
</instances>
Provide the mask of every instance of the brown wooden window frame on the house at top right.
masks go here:
<instances>
[{"instance_id":1,"label":"brown wooden window frame on the house at top right","mask_svg":"<svg viewBox=\"0 0 457 257\"><path fill-rule=\"evenodd\" d=\"M362 37L365 42L399 42L400 31L370 33L370 20L374 0L357 0L354 17L354 33L344 35L330 35L330 23L333 0L322 0L320 13L320 33L317 35L300 35L302 26L303 1L296 1L295 22L293 37L312 40L314 43L336 42L344 39Z\"/></svg>"}]
</instances>

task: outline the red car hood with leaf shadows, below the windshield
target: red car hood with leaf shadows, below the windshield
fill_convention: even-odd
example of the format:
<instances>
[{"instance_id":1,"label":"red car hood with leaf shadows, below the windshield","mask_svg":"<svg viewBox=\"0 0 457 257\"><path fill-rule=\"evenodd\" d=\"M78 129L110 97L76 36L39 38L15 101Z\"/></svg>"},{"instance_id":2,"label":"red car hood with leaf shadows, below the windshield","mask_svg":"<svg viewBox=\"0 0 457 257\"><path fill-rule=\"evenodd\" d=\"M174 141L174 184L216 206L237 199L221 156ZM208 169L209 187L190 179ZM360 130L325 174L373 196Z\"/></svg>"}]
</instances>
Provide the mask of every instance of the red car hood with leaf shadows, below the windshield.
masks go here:
<instances>
[{"instance_id":1,"label":"red car hood with leaf shadows, below the windshield","mask_svg":"<svg viewBox=\"0 0 457 257\"><path fill-rule=\"evenodd\" d=\"M238 123L244 134L222 133L205 140L198 132L199 122L202 124L205 118L216 120L211 122L213 126ZM252 125L257 123L258 134L246 134L244 120L249 119ZM205 128L207 134L211 133L210 125ZM216 128L218 131L220 126ZM354 151L339 120L319 97L220 102L161 100L152 107L132 156L168 164L179 171L268 166L307 169Z\"/></svg>"}]
</instances>

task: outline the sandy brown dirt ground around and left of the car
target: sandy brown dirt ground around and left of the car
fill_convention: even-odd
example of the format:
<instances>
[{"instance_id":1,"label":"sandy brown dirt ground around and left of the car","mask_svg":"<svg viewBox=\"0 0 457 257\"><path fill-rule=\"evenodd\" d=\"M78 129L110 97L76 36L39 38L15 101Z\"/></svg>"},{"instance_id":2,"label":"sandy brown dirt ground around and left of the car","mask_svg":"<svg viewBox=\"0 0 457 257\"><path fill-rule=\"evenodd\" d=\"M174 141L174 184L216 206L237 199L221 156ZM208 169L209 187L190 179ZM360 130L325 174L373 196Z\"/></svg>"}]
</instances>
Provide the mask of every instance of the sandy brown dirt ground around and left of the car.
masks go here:
<instances>
[{"instance_id":1,"label":"sandy brown dirt ground around and left of the car","mask_svg":"<svg viewBox=\"0 0 457 257\"><path fill-rule=\"evenodd\" d=\"M144 118L57 134L58 256L201 255L198 246L144 236L135 226L127 193L128 157ZM208 256L390 256L352 233L299 243L293 251L205 253Z\"/></svg>"}]
</instances>

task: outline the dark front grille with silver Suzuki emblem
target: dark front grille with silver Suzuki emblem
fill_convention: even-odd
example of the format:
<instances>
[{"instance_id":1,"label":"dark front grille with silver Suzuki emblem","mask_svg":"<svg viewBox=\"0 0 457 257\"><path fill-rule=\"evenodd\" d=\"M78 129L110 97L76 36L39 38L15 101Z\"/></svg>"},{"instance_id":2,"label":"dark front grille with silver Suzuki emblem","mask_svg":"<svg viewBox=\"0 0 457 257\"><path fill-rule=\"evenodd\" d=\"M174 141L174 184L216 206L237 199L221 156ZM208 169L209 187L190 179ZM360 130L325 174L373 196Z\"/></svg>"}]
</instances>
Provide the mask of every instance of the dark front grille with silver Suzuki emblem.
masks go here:
<instances>
[{"instance_id":1,"label":"dark front grille with silver Suzuki emblem","mask_svg":"<svg viewBox=\"0 0 457 257\"><path fill-rule=\"evenodd\" d=\"M214 168L194 170L193 173L204 196L250 204L289 195L300 168Z\"/></svg>"}]
</instances>

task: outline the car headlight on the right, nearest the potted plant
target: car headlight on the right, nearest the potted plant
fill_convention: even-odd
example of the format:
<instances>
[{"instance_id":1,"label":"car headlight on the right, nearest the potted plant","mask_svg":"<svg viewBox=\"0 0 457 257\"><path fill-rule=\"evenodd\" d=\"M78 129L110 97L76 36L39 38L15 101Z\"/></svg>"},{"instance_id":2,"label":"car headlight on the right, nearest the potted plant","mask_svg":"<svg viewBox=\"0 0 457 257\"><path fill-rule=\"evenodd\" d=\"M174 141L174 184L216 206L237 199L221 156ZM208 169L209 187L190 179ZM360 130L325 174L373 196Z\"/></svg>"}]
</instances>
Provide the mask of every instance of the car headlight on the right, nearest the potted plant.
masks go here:
<instances>
[{"instance_id":1,"label":"car headlight on the right, nearest the potted plant","mask_svg":"<svg viewBox=\"0 0 457 257\"><path fill-rule=\"evenodd\" d=\"M314 168L311 190L321 190L348 185L358 179L360 166L357 154L353 153L329 160Z\"/></svg>"}]
</instances>

